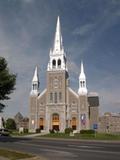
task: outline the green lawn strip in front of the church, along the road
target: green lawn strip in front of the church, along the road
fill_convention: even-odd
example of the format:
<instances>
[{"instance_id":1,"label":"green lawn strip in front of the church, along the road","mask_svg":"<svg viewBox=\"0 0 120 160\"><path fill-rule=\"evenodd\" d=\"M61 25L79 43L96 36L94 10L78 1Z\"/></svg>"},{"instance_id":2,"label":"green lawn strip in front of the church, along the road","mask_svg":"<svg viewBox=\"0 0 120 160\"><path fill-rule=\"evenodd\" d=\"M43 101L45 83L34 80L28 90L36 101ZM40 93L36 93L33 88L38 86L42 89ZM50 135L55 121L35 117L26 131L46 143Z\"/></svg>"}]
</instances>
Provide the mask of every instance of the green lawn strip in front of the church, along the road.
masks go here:
<instances>
[{"instance_id":1,"label":"green lawn strip in front of the church, along the road","mask_svg":"<svg viewBox=\"0 0 120 160\"><path fill-rule=\"evenodd\" d=\"M114 134L102 134L96 133L95 134L80 134L76 133L74 136L70 136L69 134L65 133L50 133L47 135L43 135L42 137L50 137L50 138L69 138L69 139L90 139L90 140L120 140L120 135Z\"/></svg>"}]
</instances>

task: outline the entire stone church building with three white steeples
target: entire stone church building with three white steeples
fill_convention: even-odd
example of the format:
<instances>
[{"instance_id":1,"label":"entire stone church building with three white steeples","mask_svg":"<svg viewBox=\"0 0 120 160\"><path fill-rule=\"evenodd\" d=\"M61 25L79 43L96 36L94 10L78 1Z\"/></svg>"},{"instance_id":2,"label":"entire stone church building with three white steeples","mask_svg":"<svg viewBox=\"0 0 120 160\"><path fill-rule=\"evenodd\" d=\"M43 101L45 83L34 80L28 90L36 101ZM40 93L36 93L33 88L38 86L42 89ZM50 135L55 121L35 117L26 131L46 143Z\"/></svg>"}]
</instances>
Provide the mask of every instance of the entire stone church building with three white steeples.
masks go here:
<instances>
[{"instance_id":1,"label":"entire stone church building with three white steeples","mask_svg":"<svg viewBox=\"0 0 120 160\"><path fill-rule=\"evenodd\" d=\"M39 92L38 69L35 68L29 106L29 131L40 128L45 132L65 128L93 129L98 124L99 97L87 90L83 62L76 93L69 86L67 57L64 51L60 19L57 19L54 45L50 49L46 88Z\"/></svg>"}]
</instances>

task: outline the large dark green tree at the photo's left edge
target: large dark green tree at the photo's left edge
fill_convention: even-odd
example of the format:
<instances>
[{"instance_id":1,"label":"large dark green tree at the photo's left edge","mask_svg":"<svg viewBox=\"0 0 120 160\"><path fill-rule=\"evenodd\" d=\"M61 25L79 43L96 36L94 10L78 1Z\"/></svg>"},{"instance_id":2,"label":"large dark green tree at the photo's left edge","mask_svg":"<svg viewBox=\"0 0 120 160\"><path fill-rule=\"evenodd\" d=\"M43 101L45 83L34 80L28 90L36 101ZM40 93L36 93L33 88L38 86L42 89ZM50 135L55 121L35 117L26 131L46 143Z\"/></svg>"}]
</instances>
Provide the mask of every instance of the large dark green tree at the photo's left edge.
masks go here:
<instances>
[{"instance_id":1,"label":"large dark green tree at the photo's left edge","mask_svg":"<svg viewBox=\"0 0 120 160\"><path fill-rule=\"evenodd\" d=\"M5 104L3 100L10 99L9 94L15 89L16 75L10 73L5 58L0 57L0 112L2 112Z\"/></svg>"}]
</instances>

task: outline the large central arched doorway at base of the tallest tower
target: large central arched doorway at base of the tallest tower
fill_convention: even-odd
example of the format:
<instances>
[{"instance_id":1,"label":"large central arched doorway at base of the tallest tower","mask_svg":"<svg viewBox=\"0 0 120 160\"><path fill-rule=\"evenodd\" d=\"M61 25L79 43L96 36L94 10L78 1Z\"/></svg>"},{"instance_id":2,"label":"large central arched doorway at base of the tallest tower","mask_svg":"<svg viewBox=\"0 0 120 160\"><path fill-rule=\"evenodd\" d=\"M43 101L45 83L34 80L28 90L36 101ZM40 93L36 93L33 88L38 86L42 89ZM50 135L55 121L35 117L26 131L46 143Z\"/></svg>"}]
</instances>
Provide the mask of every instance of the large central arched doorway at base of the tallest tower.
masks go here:
<instances>
[{"instance_id":1,"label":"large central arched doorway at base of the tallest tower","mask_svg":"<svg viewBox=\"0 0 120 160\"><path fill-rule=\"evenodd\" d=\"M52 115L52 129L59 131L59 115L57 113Z\"/></svg>"}]
</instances>

